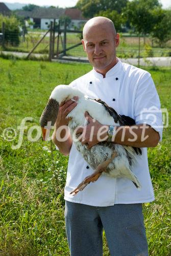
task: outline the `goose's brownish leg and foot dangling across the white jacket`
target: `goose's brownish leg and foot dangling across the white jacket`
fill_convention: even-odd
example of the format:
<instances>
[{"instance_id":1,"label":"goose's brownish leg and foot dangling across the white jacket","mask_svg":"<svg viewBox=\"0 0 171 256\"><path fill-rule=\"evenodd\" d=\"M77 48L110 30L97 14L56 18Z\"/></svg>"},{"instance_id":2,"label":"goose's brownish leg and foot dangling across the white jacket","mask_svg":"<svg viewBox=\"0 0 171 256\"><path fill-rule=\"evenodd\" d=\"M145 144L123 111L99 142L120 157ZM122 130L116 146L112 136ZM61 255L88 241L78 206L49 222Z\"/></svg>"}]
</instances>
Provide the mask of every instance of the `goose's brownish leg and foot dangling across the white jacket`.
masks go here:
<instances>
[{"instance_id":1,"label":"goose's brownish leg and foot dangling across the white jacket","mask_svg":"<svg viewBox=\"0 0 171 256\"><path fill-rule=\"evenodd\" d=\"M116 152L113 152L111 158L100 163L92 175L87 176L74 190L69 194L75 196L79 191L83 190L90 182L94 182L102 175L103 172L106 172L107 166L112 162L112 160L117 156Z\"/></svg>"}]
</instances>

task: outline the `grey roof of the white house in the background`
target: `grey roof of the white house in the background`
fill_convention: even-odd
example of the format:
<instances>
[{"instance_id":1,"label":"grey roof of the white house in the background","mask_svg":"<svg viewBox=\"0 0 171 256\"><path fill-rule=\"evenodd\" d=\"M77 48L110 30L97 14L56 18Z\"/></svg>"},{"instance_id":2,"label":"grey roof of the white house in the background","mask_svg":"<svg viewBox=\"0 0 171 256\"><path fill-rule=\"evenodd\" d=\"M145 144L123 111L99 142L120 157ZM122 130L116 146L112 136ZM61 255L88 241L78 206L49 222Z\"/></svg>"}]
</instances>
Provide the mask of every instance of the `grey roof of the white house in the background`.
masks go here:
<instances>
[{"instance_id":1,"label":"grey roof of the white house in the background","mask_svg":"<svg viewBox=\"0 0 171 256\"><path fill-rule=\"evenodd\" d=\"M30 14L31 18L59 18L64 15L62 8L37 8Z\"/></svg>"}]
</instances>

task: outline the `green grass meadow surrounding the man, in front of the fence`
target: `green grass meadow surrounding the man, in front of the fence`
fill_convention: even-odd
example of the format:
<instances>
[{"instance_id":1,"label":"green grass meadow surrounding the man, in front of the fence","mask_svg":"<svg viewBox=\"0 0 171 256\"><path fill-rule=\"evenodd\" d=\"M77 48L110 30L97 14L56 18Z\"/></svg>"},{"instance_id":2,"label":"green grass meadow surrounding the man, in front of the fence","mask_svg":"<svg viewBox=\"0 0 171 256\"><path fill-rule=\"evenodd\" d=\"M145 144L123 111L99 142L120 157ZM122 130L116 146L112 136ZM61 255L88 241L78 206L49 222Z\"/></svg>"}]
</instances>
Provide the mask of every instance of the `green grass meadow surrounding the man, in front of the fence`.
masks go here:
<instances>
[{"instance_id":1,"label":"green grass meadow surrounding the man, in front of the fence","mask_svg":"<svg viewBox=\"0 0 171 256\"><path fill-rule=\"evenodd\" d=\"M80 63L60 64L0 58L0 255L69 255L64 225L68 158L50 142L30 142L28 131L39 124L47 99L58 84L68 84L91 70ZM149 68L162 108L171 109L170 68ZM13 150L17 126L25 117L23 142ZM170 117L170 116L169 116ZM17 131L7 141L7 127ZM168 256L170 249L170 126L163 141L149 149L149 164L156 201L144 204L144 221L152 256ZM36 133L34 134L36 136ZM43 150L47 146L49 152ZM104 236L104 255L109 255Z\"/></svg>"}]
</instances>

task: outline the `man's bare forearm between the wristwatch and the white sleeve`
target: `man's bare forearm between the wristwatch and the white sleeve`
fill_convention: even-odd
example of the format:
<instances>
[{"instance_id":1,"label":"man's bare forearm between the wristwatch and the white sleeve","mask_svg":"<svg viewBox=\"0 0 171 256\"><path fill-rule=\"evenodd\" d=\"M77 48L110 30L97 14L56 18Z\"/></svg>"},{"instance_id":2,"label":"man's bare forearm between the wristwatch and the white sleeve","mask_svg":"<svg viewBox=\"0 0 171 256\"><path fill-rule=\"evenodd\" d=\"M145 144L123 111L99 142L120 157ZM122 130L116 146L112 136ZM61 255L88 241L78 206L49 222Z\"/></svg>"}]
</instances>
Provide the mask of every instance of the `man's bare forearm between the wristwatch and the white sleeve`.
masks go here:
<instances>
[{"instance_id":1,"label":"man's bare forearm between the wristwatch and the white sleeve","mask_svg":"<svg viewBox=\"0 0 171 256\"><path fill-rule=\"evenodd\" d=\"M160 136L150 125L138 124L133 126L115 126L116 134L114 143L135 146L135 147L155 147Z\"/></svg>"}]
</instances>

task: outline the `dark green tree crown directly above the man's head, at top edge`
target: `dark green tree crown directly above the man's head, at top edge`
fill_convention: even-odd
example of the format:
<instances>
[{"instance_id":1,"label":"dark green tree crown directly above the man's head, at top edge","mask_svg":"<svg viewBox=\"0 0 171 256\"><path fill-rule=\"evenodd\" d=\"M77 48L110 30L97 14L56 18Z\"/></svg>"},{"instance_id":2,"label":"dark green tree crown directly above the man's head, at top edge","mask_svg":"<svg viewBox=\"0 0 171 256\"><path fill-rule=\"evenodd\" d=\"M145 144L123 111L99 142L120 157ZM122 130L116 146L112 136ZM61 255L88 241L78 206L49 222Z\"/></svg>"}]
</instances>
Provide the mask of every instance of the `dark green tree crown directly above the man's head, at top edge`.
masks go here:
<instances>
[{"instance_id":1,"label":"dark green tree crown directly above the man's head, at top edge","mask_svg":"<svg viewBox=\"0 0 171 256\"><path fill-rule=\"evenodd\" d=\"M115 10L121 13L127 2L128 0L79 0L76 8L79 8L85 17L91 18L100 11Z\"/></svg>"}]
</instances>

